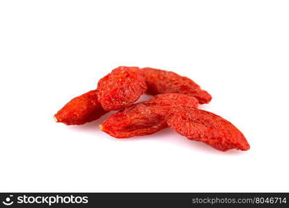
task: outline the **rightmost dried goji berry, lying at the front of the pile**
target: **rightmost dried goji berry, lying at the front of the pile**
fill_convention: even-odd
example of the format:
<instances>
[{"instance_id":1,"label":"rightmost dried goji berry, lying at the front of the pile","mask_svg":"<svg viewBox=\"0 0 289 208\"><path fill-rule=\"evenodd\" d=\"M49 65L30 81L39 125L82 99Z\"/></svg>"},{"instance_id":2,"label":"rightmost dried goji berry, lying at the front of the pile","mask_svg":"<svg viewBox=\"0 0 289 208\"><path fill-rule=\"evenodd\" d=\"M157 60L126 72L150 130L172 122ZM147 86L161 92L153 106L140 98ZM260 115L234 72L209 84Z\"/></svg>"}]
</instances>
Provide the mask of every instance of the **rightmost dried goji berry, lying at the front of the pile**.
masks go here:
<instances>
[{"instance_id":1,"label":"rightmost dried goji berry, lying at the front of the pile","mask_svg":"<svg viewBox=\"0 0 289 208\"><path fill-rule=\"evenodd\" d=\"M249 150L244 135L220 116L194 107L173 107L167 125L188 139L201 141L221 151Z\"/></svg>"}]
</instances>

